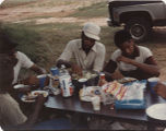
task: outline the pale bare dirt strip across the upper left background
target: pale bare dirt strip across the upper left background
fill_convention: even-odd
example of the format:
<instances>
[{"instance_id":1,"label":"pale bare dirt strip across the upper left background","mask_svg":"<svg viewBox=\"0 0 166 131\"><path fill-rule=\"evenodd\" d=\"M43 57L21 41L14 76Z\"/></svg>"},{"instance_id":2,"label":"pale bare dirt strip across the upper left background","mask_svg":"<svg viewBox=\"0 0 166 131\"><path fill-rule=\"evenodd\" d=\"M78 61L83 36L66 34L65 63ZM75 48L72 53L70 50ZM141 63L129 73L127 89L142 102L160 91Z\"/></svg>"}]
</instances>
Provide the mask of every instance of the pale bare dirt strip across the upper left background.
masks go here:
<instances>
[{"instance_id":1,"label":"pale bare dirt strip across the upper left background","mask_svg":"<svg viewBox=\"0 0 166 131\"><path fill-rule=\"evenodd\" d=\"M8 0L7 0L8 1ZM49 1L49 0L48 0ZM57 4L50 8L50 5L46 4L45 0L40 0L40 4L46 4L44 7L38 5L38 2L32 2L19 7L0 9L0 21L4 22L13 22L13 23L22 23L22 22L31 22L32 20L36 22L36 24L44 23L75 23L75 22L85 22L87 19L76 19L76 17L67 17L66 15L74 12L76 9L82 7L88 7L91 4L106 1L106 0L70 0L72 1L70 4ZM52 17L46 17L54 15ZM45 16L46 19L33 19L35 16ZM88 19L92 22L96 22L100 26L107 25L106 17L95 17Z\"/></svg>"}]
</instances>

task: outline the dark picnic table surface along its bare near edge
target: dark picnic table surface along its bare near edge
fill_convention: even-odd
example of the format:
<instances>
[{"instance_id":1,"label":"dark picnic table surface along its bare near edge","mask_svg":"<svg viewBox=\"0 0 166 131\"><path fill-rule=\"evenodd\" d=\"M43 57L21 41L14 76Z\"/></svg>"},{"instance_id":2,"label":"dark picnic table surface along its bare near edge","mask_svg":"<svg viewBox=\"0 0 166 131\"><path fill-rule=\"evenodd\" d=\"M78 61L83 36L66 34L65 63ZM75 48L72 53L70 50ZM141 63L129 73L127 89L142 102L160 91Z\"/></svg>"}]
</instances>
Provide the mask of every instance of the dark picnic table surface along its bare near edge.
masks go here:
<instances>
[{"instance_id":1,"label":"dark picnic table surface along its bare near edge","mask_svg":"<svg viewBox=\"0 0 166 131\"><path fill-rule=\"evenodd\" d=\"M146 108L154 104L166 103L161 96L152 95L149 90L145 91L144 95ZM145 109L110 109L110 105L102 104L100 110L95 111L93 110L92 104L81 102L78 94L68 98L64 98L61 95L49 96L45 106L46 108L51 108L54 110L80 112L86 116L103 117L110 120L127 121L131 123L139 122L146 124L149 129L154 126L166 126L165 121L149 118Z\"/></svg>"}]
</instances>

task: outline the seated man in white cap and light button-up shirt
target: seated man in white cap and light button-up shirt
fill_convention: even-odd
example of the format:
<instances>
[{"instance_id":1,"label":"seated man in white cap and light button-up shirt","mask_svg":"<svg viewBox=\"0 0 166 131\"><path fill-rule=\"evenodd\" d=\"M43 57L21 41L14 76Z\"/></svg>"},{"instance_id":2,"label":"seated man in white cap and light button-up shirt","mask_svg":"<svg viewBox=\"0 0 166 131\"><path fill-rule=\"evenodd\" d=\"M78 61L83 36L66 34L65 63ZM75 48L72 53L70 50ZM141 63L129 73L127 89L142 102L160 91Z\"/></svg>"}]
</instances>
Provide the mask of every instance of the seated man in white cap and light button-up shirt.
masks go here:
<instances>
[{"instance_id":1,"label":"seated man in white cap and light button-up shirt","mask_svg":"<svg viewBox=\"0 0 166 131\"><path fill-rule=\"evenodd\" d=\"M70 40L59 57L57 66L72 68L73 73L81 74L82 70L102 71L105 60L105 46L99 40L100 27L94 23L85 23L81 39ZM74 57L76 63L70 61Z\"/></svg>"}]
</instances>

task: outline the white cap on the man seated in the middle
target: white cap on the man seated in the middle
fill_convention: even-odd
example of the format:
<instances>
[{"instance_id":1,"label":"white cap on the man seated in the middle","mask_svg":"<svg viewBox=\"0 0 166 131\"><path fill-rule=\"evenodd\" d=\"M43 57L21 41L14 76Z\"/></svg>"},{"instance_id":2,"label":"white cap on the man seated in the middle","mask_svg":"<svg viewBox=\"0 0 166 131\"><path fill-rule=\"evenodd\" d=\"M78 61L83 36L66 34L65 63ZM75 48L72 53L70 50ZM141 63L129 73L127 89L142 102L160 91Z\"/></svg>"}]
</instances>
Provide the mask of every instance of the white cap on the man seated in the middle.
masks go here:
<instances>
[{"instance_id":1,"label":"white cap on the man seated in the middle","mask_svg":"<svg viewBox=\"0 0 166 131\"><path fill-rule=\"evenodd\" d=\"M94 23L85 23L83 27L83 32L85 36L99 40L100 27Z\"/></svg>"}]
</instances>

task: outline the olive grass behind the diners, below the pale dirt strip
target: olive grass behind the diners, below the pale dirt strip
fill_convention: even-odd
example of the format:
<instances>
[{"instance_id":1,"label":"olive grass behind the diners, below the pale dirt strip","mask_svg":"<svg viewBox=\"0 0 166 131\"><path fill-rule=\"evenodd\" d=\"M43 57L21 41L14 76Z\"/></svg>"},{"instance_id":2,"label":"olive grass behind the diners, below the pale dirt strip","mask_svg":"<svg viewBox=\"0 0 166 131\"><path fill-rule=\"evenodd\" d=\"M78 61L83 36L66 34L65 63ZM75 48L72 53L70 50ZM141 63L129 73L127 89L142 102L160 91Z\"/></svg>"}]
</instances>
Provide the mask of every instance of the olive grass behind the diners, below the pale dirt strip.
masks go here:
<instances>
[{"instance_id":1,"label":"olive grass behind the diners, below the pale dirt strip","mask_svg":"<svg viewBox=\"0 0 166 131\"><path fill-rule=\"evenodd\" d=\"M10 33L19 43L19 50L25 52L34 62L46 66L49 69L61 55L67 43L80 38L82 25L56 23L56 24L5 24ZM106 58L115 50L112 35L119 28L103 27L102 43L107 48Z\"/></svg>"}]
</instances>

